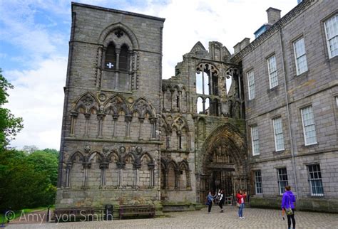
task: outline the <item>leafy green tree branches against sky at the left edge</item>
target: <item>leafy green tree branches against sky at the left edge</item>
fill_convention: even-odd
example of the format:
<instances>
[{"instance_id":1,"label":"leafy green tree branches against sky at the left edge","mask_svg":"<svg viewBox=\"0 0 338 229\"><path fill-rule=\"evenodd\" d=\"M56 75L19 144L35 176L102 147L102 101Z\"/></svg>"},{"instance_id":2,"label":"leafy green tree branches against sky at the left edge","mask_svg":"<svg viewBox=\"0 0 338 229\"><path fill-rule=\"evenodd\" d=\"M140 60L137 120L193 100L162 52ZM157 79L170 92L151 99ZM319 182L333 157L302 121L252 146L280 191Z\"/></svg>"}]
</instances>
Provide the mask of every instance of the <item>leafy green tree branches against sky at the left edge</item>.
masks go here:
<instances>
[{"instance_id":1,"label":"leafy green tree branches against sky at the left edge","mask_svg":"<svg viewBox=\"0 0 338 229\"><path fill-rule=\"evenodd\" d=\"M2 107L8 102L8 90L12 89L6 78L3 77L0 68L0 149L4 149L9 141L23 128L22 118L15 117L9 109Z\"/></svg>"}]
</instances>

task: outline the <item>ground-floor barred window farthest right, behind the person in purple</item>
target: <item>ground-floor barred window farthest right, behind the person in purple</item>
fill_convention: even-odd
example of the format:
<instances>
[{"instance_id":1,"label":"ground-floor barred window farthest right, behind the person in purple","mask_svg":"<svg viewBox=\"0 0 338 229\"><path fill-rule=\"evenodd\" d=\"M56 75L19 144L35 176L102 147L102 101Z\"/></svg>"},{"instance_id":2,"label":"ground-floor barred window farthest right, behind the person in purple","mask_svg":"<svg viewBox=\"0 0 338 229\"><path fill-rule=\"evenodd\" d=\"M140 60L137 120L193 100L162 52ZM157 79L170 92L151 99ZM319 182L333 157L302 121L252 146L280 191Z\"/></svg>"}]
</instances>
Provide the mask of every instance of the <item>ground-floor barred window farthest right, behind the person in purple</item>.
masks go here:
<instances>
[{"instance_id":1,"label":"ground-floor barred window farthest right, behind the person in purple","mask_svg":"<svg viewBox=\"0 0 338 229\"><path fill-rule=\"evenodd\" d=\"M312 171L310 171L310 167L312 167ZM322 182L322 172L320 171L319 164L310 164L307 166L307 171L309 173L309 188L311 196L324 196L324 188ZM313 176L311 176L311 174ZM317 178L314 178L317 175ZM313 177L313 178L312 178ZM316 186L315 183L320 184ZM316 191L314 193L314 190ZM322 191L322 192L320 192Z\"/></svg>"}]
</instances>

